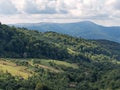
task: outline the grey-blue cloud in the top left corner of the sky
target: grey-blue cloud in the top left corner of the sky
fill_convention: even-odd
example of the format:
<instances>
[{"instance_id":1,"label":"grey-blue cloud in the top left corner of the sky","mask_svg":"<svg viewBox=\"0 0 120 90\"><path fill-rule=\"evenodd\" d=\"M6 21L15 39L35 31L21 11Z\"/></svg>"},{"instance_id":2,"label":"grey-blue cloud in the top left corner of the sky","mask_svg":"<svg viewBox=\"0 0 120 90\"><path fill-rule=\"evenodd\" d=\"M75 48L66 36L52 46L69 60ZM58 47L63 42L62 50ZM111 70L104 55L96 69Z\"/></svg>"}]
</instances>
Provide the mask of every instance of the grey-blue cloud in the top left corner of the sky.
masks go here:
<instances>
[{"instance_id":1,"label":"grey-blue cloud in the top left corner of the sky","mask_svg":"<svg viewBox=\"0 0 120 90\"><path fill-rule=\"evenodd\" d=\"M16 14L17 9L10 0L0 0L0 14Z\"/></svg>"}]
</instances>

